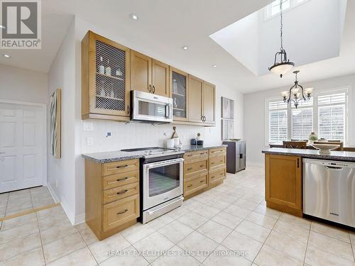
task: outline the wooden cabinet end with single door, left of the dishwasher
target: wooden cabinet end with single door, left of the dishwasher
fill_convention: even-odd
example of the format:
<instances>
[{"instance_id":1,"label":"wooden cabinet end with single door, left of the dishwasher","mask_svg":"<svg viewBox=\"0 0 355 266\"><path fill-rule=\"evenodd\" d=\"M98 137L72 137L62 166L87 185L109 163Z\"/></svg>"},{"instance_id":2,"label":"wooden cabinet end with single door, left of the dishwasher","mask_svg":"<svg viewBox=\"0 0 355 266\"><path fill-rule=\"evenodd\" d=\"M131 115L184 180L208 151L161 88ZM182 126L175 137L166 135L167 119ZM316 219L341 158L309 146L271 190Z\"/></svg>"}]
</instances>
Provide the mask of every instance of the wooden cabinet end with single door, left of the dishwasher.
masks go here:
<instances>
[{"instance_id":1,"label":"wooden cabinet end with single door, left of the dishwasher","mask_svg":"<svg viewBox=\"0 0 355 266\"><path fill-rule=\"evenodd\" d=\"M265 155L266 206L302 217L302 157Z\"/></svg>"}]
</instances>

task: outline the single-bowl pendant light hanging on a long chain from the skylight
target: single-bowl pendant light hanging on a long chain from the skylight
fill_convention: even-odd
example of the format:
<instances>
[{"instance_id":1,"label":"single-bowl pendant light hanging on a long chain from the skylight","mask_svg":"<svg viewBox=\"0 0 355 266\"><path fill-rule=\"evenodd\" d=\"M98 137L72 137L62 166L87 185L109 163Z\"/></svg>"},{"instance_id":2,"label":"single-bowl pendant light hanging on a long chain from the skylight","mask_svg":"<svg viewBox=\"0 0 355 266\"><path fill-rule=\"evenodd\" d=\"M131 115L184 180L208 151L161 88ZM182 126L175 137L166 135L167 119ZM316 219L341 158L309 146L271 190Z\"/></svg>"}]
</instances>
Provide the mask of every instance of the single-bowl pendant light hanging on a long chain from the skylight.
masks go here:
<instances>
[{"instance_id":1,"label":"single-bowl pendant light hanging on a long chain from the skylight","mask_svg":"<svg viewBox=\"0 0 355 266\"><path fill-rule=\"evenodd\" d=\"M275 53L275 61L273 62L273 65L268 68L268 70L270 72L278 74L278 75L280 75L280 77L283 77L283 74L289 72L295 66L295 63L290 62L290 60L288 60L288 56L286 54L286 51L285 51L285 49L283 49L283 1L284 0L280 0L281 48L280 48L280 52ZM276 62L278 60L278 57L280 57L280 62Z\"/></svg>"}]
</instances>

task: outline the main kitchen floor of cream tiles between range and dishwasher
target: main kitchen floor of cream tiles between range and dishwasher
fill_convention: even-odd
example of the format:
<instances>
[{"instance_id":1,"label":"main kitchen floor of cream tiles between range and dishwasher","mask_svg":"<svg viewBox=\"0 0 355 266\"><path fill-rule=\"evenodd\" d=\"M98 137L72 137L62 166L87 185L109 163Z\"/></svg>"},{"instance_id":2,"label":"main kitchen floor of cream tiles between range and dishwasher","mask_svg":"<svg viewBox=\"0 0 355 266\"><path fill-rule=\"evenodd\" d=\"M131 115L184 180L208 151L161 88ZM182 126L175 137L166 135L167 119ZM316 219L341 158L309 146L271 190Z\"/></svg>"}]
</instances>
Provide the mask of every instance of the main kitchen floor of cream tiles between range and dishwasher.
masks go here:
<instances>
[{"instance_id":1,"label":"main kitchen floor of cream tiles between range and dishwasher","mask_svg":"<svg viewBox=\"0 0 355 266\"><path fill-rule=\"evenodd\" d=\"M355 233L268 209L263 194L263 169L249 166L102 241L60 206L13 218L1 225L0 265L355 265Z\"/></svg>"}]
</instances>

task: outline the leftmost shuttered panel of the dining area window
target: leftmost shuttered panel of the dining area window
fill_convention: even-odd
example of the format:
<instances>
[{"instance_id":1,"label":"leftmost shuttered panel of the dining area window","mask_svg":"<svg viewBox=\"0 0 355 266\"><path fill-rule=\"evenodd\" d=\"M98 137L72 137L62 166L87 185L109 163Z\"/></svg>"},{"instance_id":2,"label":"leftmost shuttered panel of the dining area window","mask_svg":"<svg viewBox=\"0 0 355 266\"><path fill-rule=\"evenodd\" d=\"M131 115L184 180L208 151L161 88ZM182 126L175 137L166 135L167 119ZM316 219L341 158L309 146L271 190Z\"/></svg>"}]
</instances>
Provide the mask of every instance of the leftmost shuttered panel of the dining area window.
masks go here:
<instances>
[{"instance_id":1,"label":"leftmost shuttered panel of the dining area window","mask_svg":"<svg viewBox=\"0 0 355 266\"><path fill-rule=\"evenodd\" d=\"M288 139L288 109L283 101L268 103L268 142L280 143Z\"/></svg>"}]
</instances>

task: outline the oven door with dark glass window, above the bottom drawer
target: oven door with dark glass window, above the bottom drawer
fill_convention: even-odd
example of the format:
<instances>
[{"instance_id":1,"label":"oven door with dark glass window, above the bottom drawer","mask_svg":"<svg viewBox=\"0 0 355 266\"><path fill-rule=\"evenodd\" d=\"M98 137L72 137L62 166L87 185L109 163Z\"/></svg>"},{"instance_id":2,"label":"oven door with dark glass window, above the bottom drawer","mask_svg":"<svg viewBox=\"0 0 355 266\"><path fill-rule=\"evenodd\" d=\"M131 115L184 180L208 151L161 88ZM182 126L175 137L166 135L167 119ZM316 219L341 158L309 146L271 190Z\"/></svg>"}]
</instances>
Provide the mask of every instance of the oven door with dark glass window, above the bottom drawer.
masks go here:
<instances>
[{"instance_id":1,"label":"oven door with dark glass window, above the bottom drawer","mask_svg":"<svg viewBox=\"0 0 355 266\"><path fill-rule=\"evenodd\" d=\"M183 158L143 165L143 210L182 195Z\"/></svg>"}]
</instances>

